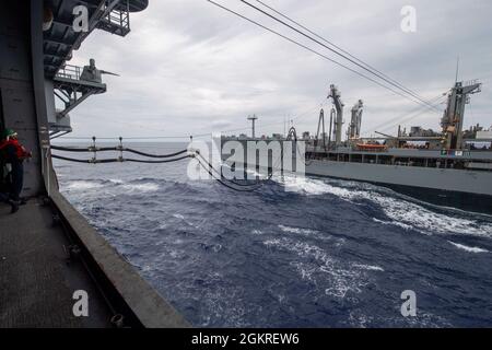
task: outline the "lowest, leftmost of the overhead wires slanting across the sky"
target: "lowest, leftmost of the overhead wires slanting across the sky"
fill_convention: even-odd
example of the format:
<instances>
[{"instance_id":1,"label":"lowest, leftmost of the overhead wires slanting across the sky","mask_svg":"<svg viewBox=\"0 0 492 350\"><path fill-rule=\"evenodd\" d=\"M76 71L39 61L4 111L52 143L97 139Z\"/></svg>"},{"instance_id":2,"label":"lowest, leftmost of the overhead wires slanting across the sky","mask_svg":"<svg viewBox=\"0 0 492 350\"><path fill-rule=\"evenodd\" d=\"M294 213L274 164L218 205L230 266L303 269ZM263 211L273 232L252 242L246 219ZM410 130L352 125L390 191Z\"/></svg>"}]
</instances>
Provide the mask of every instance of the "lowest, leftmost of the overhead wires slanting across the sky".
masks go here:
<instances>
[{"instance_id":1,"label":"lowest, leftmost of the overhead wires slanting across the sky","mask_svg":"<svg viewBox=\"0 0 492 350\"><path fill-rule=\"evenodd\" d=\"M317 55L317 56L319 56L319 57L321 57L321 58L324 58L324 59L326 59L326 60L328 60L328 61L330 61L330 62L332 62L332 63L335 63L337 66L339 66L339 67L342 67L342 68L351 71L352 73L354 73L354 74L356 74L356 75L359 75L361 78L364 78L364 79L366 79L366 80L368 80L368 81L371 81L371 82L373 82L373 83L375 83L375 84L377 84L377 85L379 85L379 86L382 86L382 88L384 88L386 90L389 90L393 93L395 93L395 94L397 94L397 95L399 95L399 96L401 96L403 98L407 98L407 100L409 100L409 101L411 101L413 103L417 103L419 105L429 107L425 103L422 103L420 101L415 101L411 96L405 95L403 93L401 93L401 92L399 92L399 91L397 91L397 90L395 90L395 89L393 89L390 86L387 86L387 85L383 84L382 82L379 82L379 81L377 81L377 80L375 80L375 79L373 79L373 78L371 78L371 77L368 77L368 75L366 75L364 73L361 73L360 71L356 71L356 70L354 70L354 69L352 69L352 68L350 68L350 67L348 67L348 66L345 66L345 65L343 65L343 63L341 63L341 62L339 62L339 61L337 61L337 60L335 60L332 58L329 58L328 56L326 56L326 55L324 55L324 54L321 54L321 52L319 52L319 51L317 51L317 50L315 50L315 49L313 49L313 48L311 48L311 47L308 47L308 46L306 46L306 45L304 45L304 44L302 44L300 42L296 42L296 40L288 37L286 35L283 35L283 34L279 33L279 32L277 32L277 31L274 31L274 30L272 30L272 28L270 28L270 27L259 23L259 22L256 22L256 21L254 21L251 19L248 19L247 16L245 16L245 15L243 15L243 14L241 14L241 13L234 11L234 10L231 10L231 9L229 9L229 8L222 5L222 4L220 4L220 3L218 3L218 2L215 2L213 0L206 0L206 1L212 3L213 5L220 8L222 10L224 10L224 11L227 11L227 12L230 12L230 13L232 13L232 14L234 14L234 15L236 15L236 16L238 16L238 18L247 21L247 22L250 22L250 23L253 23L253 24L255 24L255 25L257 25L257 26L259 26L259 27L261 27L261 28L263 28L263 30L266 30L266 31L268 31L268 32L270 32L270 33L272 33L274 35L278 35L278 36L284 38L285 40L288 40L288 42L290 42L290 43L292 43L294 45L297 45L297 46L300 46L300 47L302 47L302 48L304 48L304 49L306 49L306 50L308 50L308 51L311 51L311 52L313 52L313 54L315 54L315 55ZM241 0L241 1L243 1L243 0Z\"/></svg>"}]
</instances>

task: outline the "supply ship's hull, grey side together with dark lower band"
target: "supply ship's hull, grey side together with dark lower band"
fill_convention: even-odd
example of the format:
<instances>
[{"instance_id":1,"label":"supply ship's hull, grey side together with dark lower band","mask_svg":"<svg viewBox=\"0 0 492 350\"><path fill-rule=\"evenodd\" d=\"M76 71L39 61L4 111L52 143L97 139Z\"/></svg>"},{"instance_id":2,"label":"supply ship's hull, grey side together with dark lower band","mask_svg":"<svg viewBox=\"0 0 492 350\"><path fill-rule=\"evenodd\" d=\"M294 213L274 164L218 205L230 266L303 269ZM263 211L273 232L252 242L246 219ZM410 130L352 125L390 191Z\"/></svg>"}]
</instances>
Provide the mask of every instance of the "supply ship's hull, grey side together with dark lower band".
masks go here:
<instances>
[{"instance_id":1,"label":"supply ship's hull, grey side together with dark lower band","mask_svg":"<svg viewBox=\"0 0 492 350\"><path fill-rule=\"evenodd\" d=\"M247 159L249 152L256 152L255 143L244 143ZM313 152L311 152L313 153ZM355 158L364 154L367 159L379 155L383 158L396 158L401 160L429 159L444 163L456 161L456 156L442 155L440 151L421 151L407 149L391 149L384 153L375 152L338 152L343 159L348 155ZM312 155L312 154L311 154ZM257 155L256 164L269 164L271 167L278 161L272 160L269 154L263 159L265 153ZM297 154L293 155L297 158ZM490 159L490 152L477 152L467 155L470 162L483 162ZM223 161L231 165L227 154L222 154ZM367 160L366 160L367 161ZM294 163L304 160L296 160ZM431 164L431 162L430 162ZM255 164L248 164L248 168L256 168ZM332 177L347 180L356 180L389 187L398 192L418 198L420 200L445 207L455 207L468 211L483 212L492 214L492 171L488 170L466 170L435 166L411 166L402 164L380 164L370 162L348 162L333 161L328 159L312 159L305 162L305 174L316 177Z\"/></svg>"}]
</instances>

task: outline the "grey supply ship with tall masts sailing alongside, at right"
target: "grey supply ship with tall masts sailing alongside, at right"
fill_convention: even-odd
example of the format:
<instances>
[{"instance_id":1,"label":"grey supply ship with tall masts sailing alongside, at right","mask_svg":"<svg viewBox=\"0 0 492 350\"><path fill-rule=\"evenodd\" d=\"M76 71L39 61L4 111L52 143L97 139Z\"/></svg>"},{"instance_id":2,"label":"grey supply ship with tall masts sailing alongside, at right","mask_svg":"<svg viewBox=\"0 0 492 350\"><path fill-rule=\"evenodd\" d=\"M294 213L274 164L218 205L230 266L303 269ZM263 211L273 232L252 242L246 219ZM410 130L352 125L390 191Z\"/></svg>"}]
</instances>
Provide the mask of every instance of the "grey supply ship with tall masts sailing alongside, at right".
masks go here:
<instances>
[{"instance_id":1,"label":"grey supply ship with tall masts sailing alongside, at right","mask_svg":"<svg viewBox=\"0 0 492 350\"><path fill-rule=\"evenodd\" d=\"M304 132L297 138L292 128L286 138L243 135L222 140L245 143L248 140L303 140L306 142L303 155L306 175L374 183L433 203L492 212L492 128L483 130L476 126L464 130L465 106L470 95L480 91L478 81L456 82L447 94L441 132L413 127L407 133L399 127L397 136L379 133L377 138L362 138L364 104L359 101L351 109L351 121L342 140L343 103L338 88L331 85L328 98L333 108L328 132L321 109L314 137ZM256 118L249 119L255 124ZM272 166L271 158L269 166Z\"/></svg>"}]
</instances>

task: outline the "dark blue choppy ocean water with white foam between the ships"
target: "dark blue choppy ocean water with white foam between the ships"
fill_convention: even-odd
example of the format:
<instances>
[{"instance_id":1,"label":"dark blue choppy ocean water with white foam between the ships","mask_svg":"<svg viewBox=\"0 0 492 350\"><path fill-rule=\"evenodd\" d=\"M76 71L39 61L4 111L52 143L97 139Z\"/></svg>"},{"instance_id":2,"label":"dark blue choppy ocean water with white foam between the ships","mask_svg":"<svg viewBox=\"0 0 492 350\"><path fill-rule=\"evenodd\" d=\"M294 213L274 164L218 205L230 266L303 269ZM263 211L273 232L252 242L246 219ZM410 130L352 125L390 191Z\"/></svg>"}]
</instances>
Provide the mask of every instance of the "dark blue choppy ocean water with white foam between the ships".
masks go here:
<instances>
[{"instance_id":1,"label":"dark blue choppy ocean water with white foam between the ships","mask_svg":"<svg viewBox=\"0 0 492 350\"><path fill-rule=\"evenodd\" d=\"M492 327L490 215L328 178L237 192L190 180L186 160L55 164L66 197L194 326Z\"/></svg>"}]
</instances>

